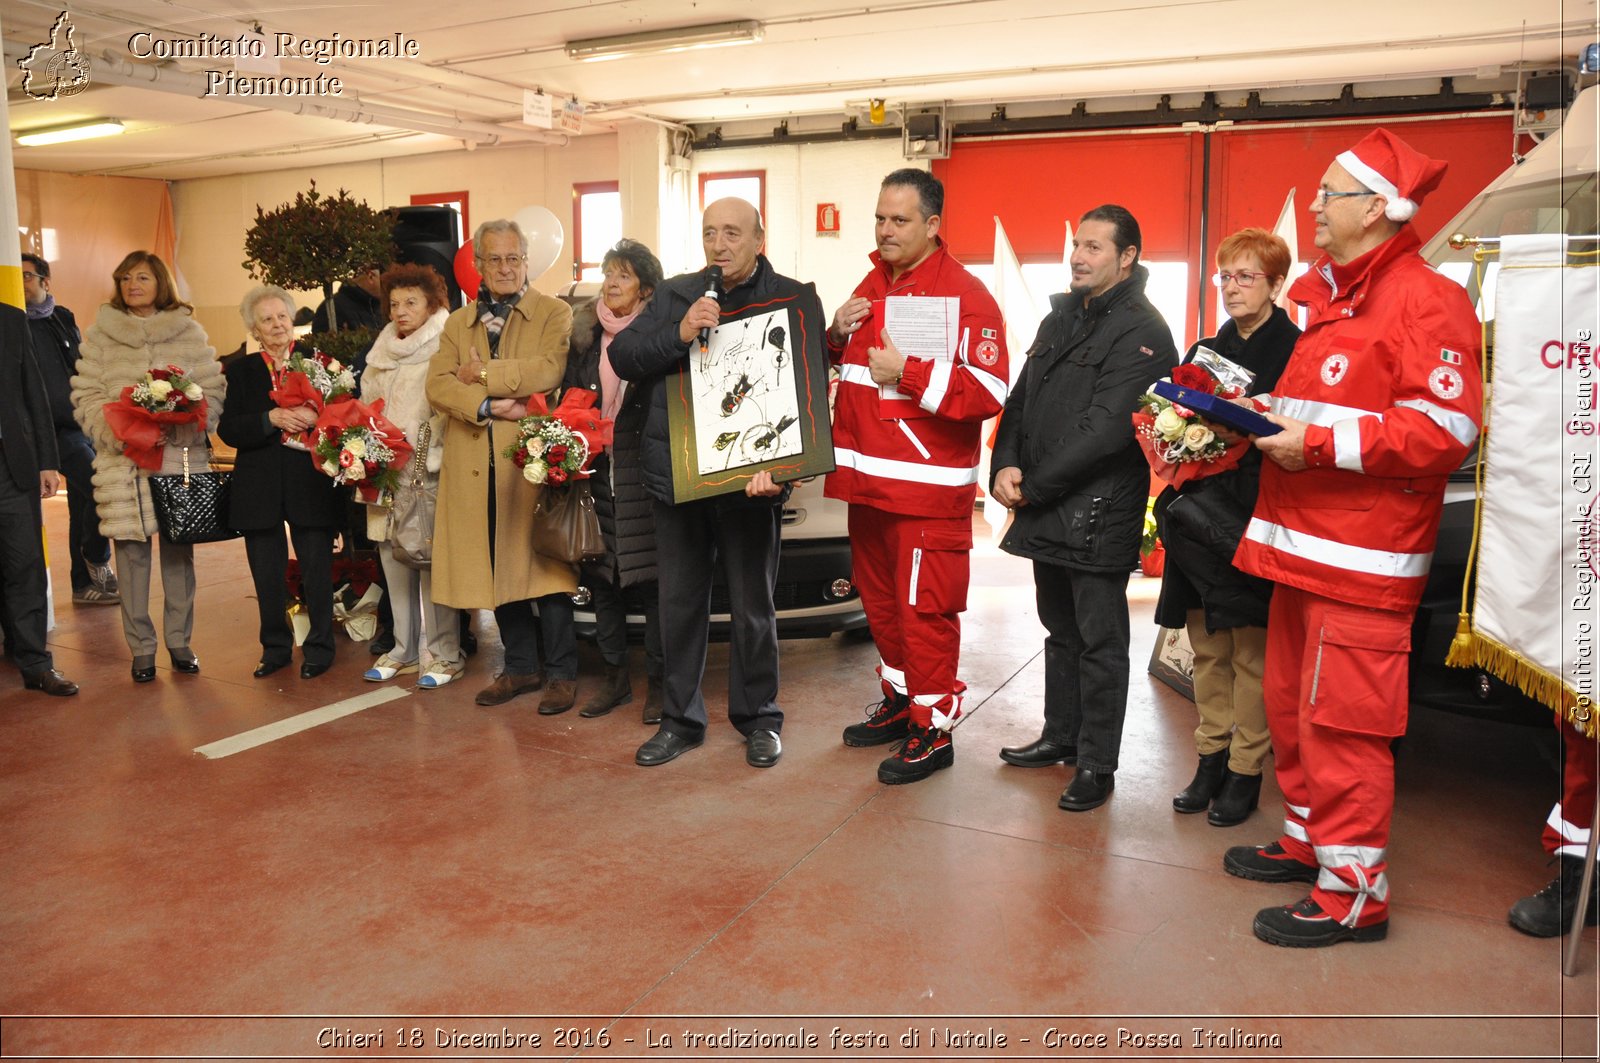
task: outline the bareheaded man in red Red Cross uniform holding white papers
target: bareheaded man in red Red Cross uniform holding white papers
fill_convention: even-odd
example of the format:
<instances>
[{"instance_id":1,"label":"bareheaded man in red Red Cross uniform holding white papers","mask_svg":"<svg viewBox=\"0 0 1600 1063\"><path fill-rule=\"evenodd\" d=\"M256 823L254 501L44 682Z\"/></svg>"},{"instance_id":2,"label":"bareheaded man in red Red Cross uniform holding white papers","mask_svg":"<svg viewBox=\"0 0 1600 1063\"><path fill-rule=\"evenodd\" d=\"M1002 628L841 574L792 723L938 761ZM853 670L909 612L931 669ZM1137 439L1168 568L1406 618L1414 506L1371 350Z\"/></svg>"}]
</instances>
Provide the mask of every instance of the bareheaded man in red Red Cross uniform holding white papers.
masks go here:
<instances>
[{"instance_id":1,"label":"bareheaded man in red Red Cross uniform holding white papers","mask_svg":"<svg viewBox=\"0 0 1600 1063\"><path fill-rule=\"evenodd\" d=\"M838 469L826 493L850 503L851 570L883 690L867 719L845 728L845 744L901 743L878 765L882 783L914 783L955 760L981 434L1010 379L1000 307L946 251L942 213L944 186L925 170L883 179L872 272L827 330ZM886 303L901 296L923 296L920 309L947 315L954 330L925 317L933 349L902 352L885 322Z\"/></svg>"}]
</instances>

